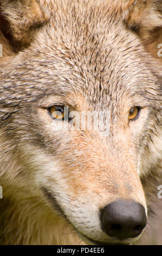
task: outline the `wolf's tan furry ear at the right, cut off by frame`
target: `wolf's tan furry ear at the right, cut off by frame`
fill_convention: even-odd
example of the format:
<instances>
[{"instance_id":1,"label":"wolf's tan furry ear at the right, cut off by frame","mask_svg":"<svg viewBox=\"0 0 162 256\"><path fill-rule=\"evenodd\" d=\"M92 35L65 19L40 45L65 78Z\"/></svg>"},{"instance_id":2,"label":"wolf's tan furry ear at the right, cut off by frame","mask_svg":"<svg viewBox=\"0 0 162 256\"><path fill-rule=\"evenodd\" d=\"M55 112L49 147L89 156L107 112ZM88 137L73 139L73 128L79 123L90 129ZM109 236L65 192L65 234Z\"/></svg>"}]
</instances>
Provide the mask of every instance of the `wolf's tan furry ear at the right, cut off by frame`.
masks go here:
<instances>
[{"instance_id":1,"label":"wolf's tan furry ear at the right, cut off by frame","mask_svg":"<svg viewBox=\"0 0 162 256\"><path fill-rule=\"evenodd\" d=\"M153 57L162 62L162 1L128 0L124 21L144 42Z\"/></svg>"}]
</instances>

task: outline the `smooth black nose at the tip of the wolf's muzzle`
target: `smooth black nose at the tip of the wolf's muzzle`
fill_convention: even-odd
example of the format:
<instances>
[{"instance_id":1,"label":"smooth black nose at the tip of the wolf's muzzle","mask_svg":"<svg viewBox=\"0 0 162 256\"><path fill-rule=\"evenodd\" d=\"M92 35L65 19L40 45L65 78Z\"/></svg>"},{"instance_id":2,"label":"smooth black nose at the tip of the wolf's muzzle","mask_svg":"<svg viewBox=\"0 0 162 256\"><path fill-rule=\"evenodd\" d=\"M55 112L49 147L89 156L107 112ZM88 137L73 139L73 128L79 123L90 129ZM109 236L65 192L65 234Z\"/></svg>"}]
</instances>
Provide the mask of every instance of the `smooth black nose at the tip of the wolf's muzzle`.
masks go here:
<instances>
[{"instance_id":1,"label":"smooth black nose at the tip of the wolf's muzzle","mask_svg":"<svg viewBox=\"0 0 162 256\"><path fill-rule=\"evenodd\" d=\"M101 211L102 229L108 236L126 239L142 233L147 223L144 206L133 200L118 200Z\"/></svg>"}]
</instances>

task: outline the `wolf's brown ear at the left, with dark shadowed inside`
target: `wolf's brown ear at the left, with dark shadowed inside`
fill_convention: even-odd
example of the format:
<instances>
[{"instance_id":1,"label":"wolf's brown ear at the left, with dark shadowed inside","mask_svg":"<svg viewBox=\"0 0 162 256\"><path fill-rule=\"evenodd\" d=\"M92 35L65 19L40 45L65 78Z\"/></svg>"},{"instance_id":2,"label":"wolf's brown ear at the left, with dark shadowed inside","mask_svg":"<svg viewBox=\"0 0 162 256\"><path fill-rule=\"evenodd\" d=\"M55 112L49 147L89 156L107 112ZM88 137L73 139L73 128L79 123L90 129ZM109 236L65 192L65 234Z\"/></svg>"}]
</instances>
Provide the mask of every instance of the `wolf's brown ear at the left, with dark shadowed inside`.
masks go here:
<instances>
[{"instance_id":1,"label":"wolf's brown ear at the left, with dark shadowed inside","mask_svg":"<svg viewBox=\"0 0 162 256\"><path fill-rule=\"evenodd\" d=\"M30 45L34 32L47 20L43 0L0 0L0 42L14 52ZM4 45L3 45L4 44Z\"/></svg>"}]
</instances>

